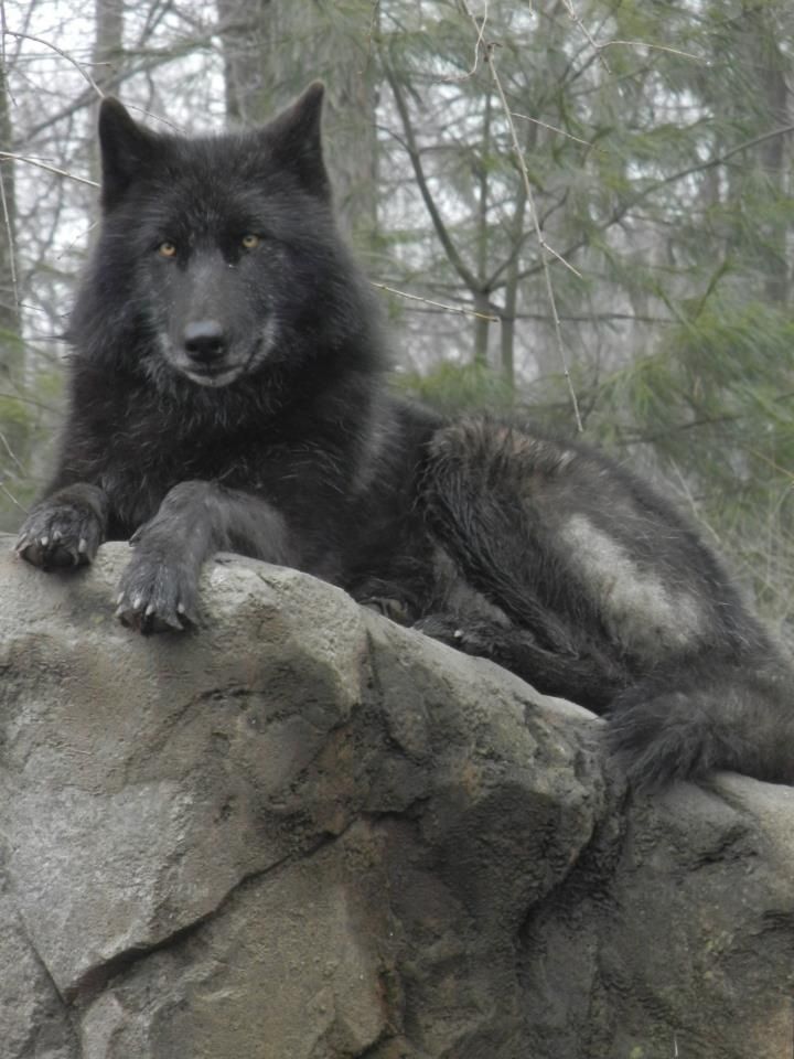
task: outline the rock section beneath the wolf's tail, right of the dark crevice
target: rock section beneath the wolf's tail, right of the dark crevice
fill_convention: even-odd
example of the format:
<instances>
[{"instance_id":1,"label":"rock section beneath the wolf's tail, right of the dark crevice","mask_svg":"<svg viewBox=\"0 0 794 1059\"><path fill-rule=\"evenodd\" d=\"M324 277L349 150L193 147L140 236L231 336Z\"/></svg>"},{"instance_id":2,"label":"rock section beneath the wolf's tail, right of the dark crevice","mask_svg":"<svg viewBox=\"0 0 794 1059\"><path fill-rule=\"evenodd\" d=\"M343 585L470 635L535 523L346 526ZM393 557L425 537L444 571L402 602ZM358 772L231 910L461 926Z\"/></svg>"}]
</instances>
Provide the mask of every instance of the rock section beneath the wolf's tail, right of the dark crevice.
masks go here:
<instances>
[{"instance_id":1,"label":"rock section beneath the wolf's tail, right of the dark crevice","mask_svg":"<svg viewBox=\"0 0 794 1059\"><path fill-rule=\"evenodd\" d=\"M723 775L627 807L522 946L532 1056L794 1053L794 790Z\"/></svg>"}]
</instances>

